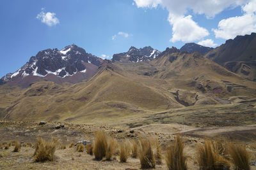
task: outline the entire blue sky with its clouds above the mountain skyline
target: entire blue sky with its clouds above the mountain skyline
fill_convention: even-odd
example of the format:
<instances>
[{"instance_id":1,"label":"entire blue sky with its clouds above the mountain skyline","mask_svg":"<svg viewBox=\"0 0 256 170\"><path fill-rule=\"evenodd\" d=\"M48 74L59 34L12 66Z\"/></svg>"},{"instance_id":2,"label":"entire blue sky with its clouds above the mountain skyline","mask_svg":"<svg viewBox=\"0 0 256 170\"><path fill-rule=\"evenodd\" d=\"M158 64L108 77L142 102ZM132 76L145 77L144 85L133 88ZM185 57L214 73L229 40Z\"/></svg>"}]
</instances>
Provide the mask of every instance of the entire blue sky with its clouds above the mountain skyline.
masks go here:
<instances>
[{"instance_id":1,"label":"entire blue sky with its clouds above the mountain skyline","mask_svg":"<svg viewBox=\"0 0 256 170\"><path fill-rule=\"evenodd\" d=\"M180 48L186 42L218 46L255 30L255 10L250 7L255 0L223 0L218 6L211 1L202 4L202 10L185 0L176 2L179 9L170 0L3 0L0 77L15 72L40 50L61 50L72 43L98 57L111 58L130 46L160 51ZM244 25L228 26L243 17L248 20ZM242 31L248 24L250 28Z\"/></svg>"}]
</instances>

